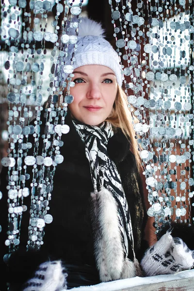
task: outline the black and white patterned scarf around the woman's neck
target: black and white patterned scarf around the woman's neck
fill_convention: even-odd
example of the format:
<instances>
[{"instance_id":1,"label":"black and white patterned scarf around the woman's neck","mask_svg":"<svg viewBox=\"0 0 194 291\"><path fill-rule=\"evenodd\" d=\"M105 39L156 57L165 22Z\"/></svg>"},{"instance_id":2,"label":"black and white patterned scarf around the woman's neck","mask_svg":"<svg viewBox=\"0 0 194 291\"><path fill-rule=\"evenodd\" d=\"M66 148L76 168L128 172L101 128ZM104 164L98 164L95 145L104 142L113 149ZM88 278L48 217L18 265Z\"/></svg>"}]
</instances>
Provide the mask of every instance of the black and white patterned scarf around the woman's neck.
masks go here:
<instances>
[{"instance_id":1,"label":"black and white patterned scarf around the woman's neck","mask_svg":"<svg viewBox=\"0 0 194 291\"><path fill-rule=\"evenodd\" d=\"M89 126L77 120L73 120L73 123L85 143L85 154L90 163L94 192L97 193L104 187L113 194L116 201L123 248L125 258L127 258L129 243L133 250L133 233L121 178L116 165L107 154L108 140L113 136L112 125L110 122L103 122L100 127Z\"/></svg>"}]
</instances>

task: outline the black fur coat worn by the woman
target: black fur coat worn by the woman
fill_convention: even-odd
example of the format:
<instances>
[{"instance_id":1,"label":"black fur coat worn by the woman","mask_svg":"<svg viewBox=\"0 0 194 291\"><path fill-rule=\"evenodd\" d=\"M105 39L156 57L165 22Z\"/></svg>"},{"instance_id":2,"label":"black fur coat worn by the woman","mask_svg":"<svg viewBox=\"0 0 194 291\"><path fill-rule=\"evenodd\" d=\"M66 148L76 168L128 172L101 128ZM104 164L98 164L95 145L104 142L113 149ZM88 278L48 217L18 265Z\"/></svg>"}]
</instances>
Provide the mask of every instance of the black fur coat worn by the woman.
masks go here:
<instances>
[{"instance_id":1,"label":"black fur coat worn by the woman","mask_svg":"<svg viewBox=\"0 0 194 291\"><path fill-rule=\"evenodd\" d=\"M45 124L43 116L41 119L41 134L43 134ZM76 266L73 273L81 272L81 270L84 270L84 266L90 266L91 272L95 274L95 280L92 283L88 281L88 285L99 283L90 217L90 193L93 192L90 166L85 156L85 146L71 121L70 114L65 117L65 123L70 126L70 132L62 136L64 145L60 148L60 151L64 156L64 162L56 167L52 198L49 202L50 210L48 213L53 216L53 222L45 226L44 244L40 251L35 253L26 252L29 212L23 213L19 251L11 256L9 268L6 268L2 261L3 255L8 252L8 248L4 246L7 231L7 168L3 167L0 176L0 191L3 194L0 201L0 222L2 222L0 223L2 225L0 266L5 271L2 279L0 279L0 284L3 284L3 280L4 282L13 282L13 288L11 289L13 291L20 290L21 284L32 277L36 267L48 259L61 259L70 269L71 265ZM32 136L29 139L31 140ZM41 148L41 142L40 138L39 148ZM121 176L132 221L134 250L137 259L140 260L148 247L147 242L143 239L146 226L146 210L141 178L138 174L134 155L129 147L129 141L119 130L109 140L107 150ZM29 155L32 154L31 151L29 150ZM28 166L28 169L30 168L33 167ZM32 174L29 170L28 173ZM26 205L30 203L30 199L28 199L29 197L25 198ZM130 256L129 252L129 259ZM69 272L67 279L69 279L69 282L72 281L72 283L69 283L69 288L80 286L79 283L75 282L76 279L73 276L71 279L71 272ZM86 283L84 284L87 285ZM6 290L3 288L5 287L1 286L0 290Z\"/></svg>"}]
</instances>

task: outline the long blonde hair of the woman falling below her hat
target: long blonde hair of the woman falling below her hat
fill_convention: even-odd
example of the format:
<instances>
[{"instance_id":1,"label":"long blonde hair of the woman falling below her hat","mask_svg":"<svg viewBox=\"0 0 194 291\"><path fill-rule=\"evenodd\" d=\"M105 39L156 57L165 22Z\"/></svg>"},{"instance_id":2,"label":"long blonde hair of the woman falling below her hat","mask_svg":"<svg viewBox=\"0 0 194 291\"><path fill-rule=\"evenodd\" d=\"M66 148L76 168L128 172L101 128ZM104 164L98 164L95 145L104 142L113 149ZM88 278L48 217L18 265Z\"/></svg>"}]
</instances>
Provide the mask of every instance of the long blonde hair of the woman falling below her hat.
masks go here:
<instances>
[{"instance_id":1,"label":"long blonde hair of the woman falling below her hat","mask_svg":"<svg viewBox=\"0 0 194 291\"><path fill-rule=\"evenodd\" d=\"M62 103L64 102L65 94L64 92L62 93L62 90L63 87L61 87L58 92L55 92L55 94L58 95L59 97L57 107L63 107ZM62 95L60 95L59 92L61 92ZM45 102L45 106L48 107L48 105L49 105L48 102ZM123 133L130 142L131 152L135 156L137 168L140 171L142 168L142 164L138 150L137 138L135 138L136 135L135 130L133 129L133 124L138 123L139 121L135 116L133 116L132 120L132 113L130 112L128 107L127 95L119 85L117 89L116 98L113 104L112 112L105 121L111 122L114 131L116 131L116 129L118 128L120 128L123 131Z\"/></svg>"}]
</instances>

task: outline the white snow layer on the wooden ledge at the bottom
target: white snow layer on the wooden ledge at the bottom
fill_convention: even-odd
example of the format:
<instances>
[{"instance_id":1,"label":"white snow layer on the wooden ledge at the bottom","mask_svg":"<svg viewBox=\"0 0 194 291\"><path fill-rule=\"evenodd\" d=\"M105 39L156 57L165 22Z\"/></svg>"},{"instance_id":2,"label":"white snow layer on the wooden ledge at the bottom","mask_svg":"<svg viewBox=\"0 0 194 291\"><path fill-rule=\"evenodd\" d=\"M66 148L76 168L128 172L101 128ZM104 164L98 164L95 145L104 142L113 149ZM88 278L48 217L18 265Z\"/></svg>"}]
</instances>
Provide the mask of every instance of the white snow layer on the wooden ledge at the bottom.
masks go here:
<instances>
[{"instance_id":1,"label":"white snow layer on the wooden ledge at the bottom","mask_svg":"<svg viewBox=\"0 0 194 291\"><path fill-rule=\"evenodd\" d=\"M134 277L134 278L129 278L129 279L100 283L93 286L81 286L77 288L72 288L71 291L119 291L121 289L129 288L129 287L156 284L156 283L162 283L162 282L170 282L170 281L190 278L190 277L194 277L194 269L181 271L173 275ZM62 291L65 291L65 289Z\"/></svg>"}]
</instances>

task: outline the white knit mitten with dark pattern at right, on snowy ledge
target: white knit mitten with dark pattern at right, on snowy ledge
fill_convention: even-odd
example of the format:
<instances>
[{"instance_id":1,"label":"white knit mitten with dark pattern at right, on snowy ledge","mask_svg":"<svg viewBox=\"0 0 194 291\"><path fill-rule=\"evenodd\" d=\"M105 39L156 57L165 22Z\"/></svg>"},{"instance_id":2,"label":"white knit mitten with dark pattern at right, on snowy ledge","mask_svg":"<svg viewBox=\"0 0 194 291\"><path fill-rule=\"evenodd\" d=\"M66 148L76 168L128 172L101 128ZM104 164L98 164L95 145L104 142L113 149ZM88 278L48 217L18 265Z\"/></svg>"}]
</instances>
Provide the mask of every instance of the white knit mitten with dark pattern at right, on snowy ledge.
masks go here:
<instances>
[{"instance_id":1,"label":"white knit mitten with dark pattern at right, on snowy ledge","mask_svg":"<svg viewBox=\"0 0 194 291\"><path fill-rule=\"evenodd\" d=\"M146 276L174 274L194 266L194 252L181 239L166 233L146 251L141 266Z\"/></svg>"}]
</instances>

